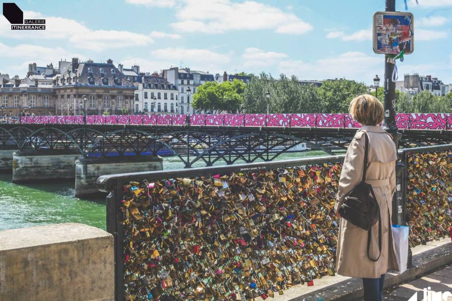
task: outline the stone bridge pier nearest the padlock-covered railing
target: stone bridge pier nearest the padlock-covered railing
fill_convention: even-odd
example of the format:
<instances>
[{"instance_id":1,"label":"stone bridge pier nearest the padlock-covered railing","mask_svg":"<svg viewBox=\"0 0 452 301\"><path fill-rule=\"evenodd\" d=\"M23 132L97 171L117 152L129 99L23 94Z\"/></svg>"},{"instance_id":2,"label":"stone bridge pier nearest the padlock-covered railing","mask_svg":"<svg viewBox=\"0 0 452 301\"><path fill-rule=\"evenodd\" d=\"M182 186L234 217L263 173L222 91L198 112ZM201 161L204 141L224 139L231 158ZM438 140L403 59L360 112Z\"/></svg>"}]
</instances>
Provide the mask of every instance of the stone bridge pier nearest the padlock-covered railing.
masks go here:
<instances>
[{"instance_id":1,"label":"stone bridge pier nearest the padlock-covered railing","mask_svg":"<svg viewBox=\"0 0 452 301\"><path fill-rule=\"evenodd\" d=\"M159 156L80 158L75 162L75 196L83 197L99 193L96 181L103 175L162 169L163 159Z\"/></svg>"}]
</instances>

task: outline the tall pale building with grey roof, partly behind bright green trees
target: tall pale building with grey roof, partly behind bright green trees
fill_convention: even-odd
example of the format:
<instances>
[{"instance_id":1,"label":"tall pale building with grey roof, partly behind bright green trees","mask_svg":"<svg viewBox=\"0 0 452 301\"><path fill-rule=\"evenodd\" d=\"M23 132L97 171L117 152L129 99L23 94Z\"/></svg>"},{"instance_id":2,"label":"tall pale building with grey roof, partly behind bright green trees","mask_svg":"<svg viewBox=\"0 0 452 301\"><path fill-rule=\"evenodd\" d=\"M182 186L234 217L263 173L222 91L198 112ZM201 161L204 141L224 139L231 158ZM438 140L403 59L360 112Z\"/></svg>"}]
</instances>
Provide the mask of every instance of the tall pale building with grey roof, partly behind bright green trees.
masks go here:
<instances>
[{"instance_id":1,"label":"tall pale building with grey roof, partly behind bright green trees","mask_svg":"<svg viewBox=\"0 0 452 301\"><path fill-rule=\"evenodd\" d=\"M170 69L162 71L162 77L173 84L179 91L180 114L206 113L200 110L194 110L191 106L191 101L193 99L193 94L196 93L196 89L200 85L214 81L213 74L204 71L190 70L190 68L179 69L178 67L171 67Z\"/></svg>"}]
</instances>

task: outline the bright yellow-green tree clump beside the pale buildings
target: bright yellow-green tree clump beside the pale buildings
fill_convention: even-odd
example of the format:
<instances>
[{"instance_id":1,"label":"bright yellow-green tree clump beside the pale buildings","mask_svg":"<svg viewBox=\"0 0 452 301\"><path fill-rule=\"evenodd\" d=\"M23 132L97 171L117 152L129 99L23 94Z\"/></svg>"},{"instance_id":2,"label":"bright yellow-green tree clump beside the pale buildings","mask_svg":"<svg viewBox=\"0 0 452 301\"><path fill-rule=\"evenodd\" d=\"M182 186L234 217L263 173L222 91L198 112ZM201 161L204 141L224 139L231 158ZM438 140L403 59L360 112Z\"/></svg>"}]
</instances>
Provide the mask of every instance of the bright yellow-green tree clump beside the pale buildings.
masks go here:
<instances>
[{"instance_id":1,"label":"bright yellow-green tree clump beside the pale buildings","mask_svg":"<svg viewBox=\"0 0 452 301\"><path fill-rule=\"evenodd\" d=\"M193 95L192 107L197 110L240 112L245 84L237 79L232 82L206 82Z\"/></svg>"}]
</instances>

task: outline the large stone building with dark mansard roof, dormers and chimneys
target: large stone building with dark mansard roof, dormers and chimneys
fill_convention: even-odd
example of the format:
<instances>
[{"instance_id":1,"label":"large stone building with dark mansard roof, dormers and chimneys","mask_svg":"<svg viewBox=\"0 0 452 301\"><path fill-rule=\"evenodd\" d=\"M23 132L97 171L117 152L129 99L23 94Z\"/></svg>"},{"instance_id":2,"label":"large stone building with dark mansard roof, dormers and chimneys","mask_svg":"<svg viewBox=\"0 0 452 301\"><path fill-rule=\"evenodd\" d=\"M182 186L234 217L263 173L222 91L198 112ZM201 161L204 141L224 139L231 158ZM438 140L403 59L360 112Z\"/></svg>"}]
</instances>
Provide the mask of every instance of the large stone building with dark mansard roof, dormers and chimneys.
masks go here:
<instances>
[{"instance_id":1,"label":"large stone building with dark mansard roof, dormers and chimneys","mask_svg":"<svg viewBox=\"0 0 452 301\"><path fill-rule=\"evenodd\" d=\"M79 63L73 58L71 64L64 65L59 71L53 80L57 115L80 115L85 107L88 115L133 114L136 87L112 60ZM83 95L87 95L86 103Z\"/></svg>"}]
</instances>

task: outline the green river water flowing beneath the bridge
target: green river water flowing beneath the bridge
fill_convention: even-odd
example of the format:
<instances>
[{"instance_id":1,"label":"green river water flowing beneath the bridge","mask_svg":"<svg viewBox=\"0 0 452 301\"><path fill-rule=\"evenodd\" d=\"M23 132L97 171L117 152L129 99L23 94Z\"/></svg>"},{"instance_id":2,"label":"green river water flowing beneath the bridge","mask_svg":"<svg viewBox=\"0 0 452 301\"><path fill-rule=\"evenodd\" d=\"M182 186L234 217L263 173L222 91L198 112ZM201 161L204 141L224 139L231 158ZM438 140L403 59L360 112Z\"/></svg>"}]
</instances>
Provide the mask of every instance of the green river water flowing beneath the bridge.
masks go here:
<instances>
[{"instance_id":1,"label":"green river water flowing beneath the bridge","mask_svg":"<svg viewBox=\"0 0 452 301\"><path fill-rule=\"evenodd\" d=\"M323 151L286 153L278 160L326 155ZM194 167L203 166L202 162ZM177 156L163 158L164 169L183 168ZM13 184L11 174L0 174L0 230L50 223L75 222L105 229L105 199L74 197L74 181Z\"/></svg>"}]
</instances>

